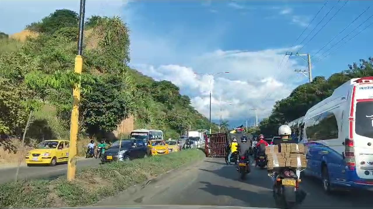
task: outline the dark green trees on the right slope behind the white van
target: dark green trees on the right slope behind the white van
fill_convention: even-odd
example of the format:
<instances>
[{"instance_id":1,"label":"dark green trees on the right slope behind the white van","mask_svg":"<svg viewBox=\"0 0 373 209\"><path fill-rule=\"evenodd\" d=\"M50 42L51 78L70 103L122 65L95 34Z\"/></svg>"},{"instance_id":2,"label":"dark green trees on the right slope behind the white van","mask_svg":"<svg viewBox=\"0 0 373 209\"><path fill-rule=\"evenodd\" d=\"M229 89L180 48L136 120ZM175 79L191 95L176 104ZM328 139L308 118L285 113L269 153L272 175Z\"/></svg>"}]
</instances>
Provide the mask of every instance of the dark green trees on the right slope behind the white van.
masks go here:
<instances>
[{"instance_id":1,"label":"dark green trees on the right slope behind the white van","mask_svg":"<svg viewBox=\"0 0 373 209\"><path fill-rule=\"evenodd\" d=\"M278 127L305 115L308 109L332 95L333 91L351 78L373 76L373 58L360 60L348 70L332 74L328 79L317 76L311 83L295 88L285 99L276 102L268 118L260 122L260 132L276 136Z\"/></svg>"}]
</instances>

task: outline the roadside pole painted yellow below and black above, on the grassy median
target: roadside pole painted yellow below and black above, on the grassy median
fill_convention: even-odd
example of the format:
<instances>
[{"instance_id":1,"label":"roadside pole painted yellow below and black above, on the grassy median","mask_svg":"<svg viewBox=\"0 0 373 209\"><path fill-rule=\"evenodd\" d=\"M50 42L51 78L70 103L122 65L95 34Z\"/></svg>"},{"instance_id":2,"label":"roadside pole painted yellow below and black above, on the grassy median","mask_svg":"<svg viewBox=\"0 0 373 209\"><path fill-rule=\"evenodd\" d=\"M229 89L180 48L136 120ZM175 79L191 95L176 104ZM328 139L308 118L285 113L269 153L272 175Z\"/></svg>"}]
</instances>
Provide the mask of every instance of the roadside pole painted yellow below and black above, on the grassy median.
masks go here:
<instances>
[{"instance_id":1,"label":"roadside pole painted yellow below and black above, on the grassy median","mask_svg":"<svg viewBox=\"0 0 373 209\"><path fill-rule=\"evenodd\" d=\"M83 67L82 47L83 47L83 32L84 32L84 13L85 13L85 0L80 0L79 12L79 34L78 34L78 55L75 57L74 72L81 76ZM76 171L76 140L78 139L79 128L79 102L80 102L80 81L76 83L73 88L73 106L71 110L70 120L70 144L69 144L69 160L68 160L68 173L69 181L75 179Z\"/></svg>"}]
</instances>

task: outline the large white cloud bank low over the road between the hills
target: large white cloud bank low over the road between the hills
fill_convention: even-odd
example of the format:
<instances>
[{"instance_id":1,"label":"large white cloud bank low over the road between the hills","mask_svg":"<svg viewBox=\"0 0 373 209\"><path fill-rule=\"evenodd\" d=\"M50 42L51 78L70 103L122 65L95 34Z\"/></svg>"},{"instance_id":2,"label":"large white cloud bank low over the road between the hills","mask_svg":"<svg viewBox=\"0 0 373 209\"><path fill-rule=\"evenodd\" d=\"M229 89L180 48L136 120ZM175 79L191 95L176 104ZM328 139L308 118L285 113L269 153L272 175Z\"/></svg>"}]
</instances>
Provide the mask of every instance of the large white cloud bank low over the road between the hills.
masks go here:
<instances>
[{"instance_id":1,"label":"large white cloud bank low over the road between the hills","mask_svg":"<svg viewBox=\"0 0 373 209\"><path fill-rule=\"evenodd\" d=\"M218 73L212 80L212 102L222 101L232 105L222 106L224 118L245 119L253 116L251 108L257 108L260 118L269 115L275 100L289 95L295 87L284 84L292 69L298 64L289 60L287 67L278 70L283 52L289 49L267 49L263 51L222 51L216 50L194 58L188 67L181 65L134 65L141 73L156 80L169 80L181 89L181 93L191 97L192 105L205 116L209 116L209 89L207 76L194 73ZM287 72L287 73L285 73ZM264 102L264 98L269 96ZM220 118L220 106L211 106L211 117Z\"/></svg>"}]
</instances>

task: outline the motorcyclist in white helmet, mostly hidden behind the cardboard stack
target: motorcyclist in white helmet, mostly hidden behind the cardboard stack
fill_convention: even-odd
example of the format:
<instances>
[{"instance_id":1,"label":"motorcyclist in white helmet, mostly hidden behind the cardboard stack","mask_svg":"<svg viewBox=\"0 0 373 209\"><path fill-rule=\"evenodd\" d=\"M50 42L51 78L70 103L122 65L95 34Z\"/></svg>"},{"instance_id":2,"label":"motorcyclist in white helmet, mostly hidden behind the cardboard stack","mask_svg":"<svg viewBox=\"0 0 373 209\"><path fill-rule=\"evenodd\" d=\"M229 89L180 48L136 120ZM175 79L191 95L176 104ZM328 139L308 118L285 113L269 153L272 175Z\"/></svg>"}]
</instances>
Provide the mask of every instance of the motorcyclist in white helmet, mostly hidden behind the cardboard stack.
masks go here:
<instances>
[{"instance_id":1,"label":"motorcyclist in white helmet, mostly hidden behind the cardboard stack","mask_svg":"<svg viewBox=\"0 0 373 209\"><path fill-rule=\"evenodd\" d=\"M289 138L289 136L291 135L291 129L288 125L280 126L279 129L278 129L278 134L281 137L280 143L285 143L285 144L286 143L297 143L294 140L292 140L291 138ZM279 149L281 149L281 146L279 146ZM279 150L279 152L280 152L280 150ZM271 175L273 184L276 183L276 181L275 181L276 176L277 176L277 173L276 173L276 171L274 171L273 174ZM300 171L297 171L297 176L298 176L298 178L300 178ZM275 191L273 190L273 192L275 192ZM303 202L306 195L307 194L303 190L299 189L298 193L297 193L297 203Z\"/></svg>"}]
</instances>

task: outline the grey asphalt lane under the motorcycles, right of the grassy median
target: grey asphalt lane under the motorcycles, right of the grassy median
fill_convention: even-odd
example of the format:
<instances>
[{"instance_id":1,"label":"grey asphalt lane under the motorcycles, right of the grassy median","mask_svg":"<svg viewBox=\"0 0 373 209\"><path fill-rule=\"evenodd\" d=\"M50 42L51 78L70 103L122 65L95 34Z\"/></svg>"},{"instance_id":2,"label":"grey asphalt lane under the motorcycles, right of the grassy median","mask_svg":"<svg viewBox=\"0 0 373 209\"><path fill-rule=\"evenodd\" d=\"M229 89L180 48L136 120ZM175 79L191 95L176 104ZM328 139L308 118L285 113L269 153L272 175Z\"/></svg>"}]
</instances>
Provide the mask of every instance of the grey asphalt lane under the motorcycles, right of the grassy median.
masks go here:
<instances>
[{"instance_id":1,"label":"grey asphalt lane under the motorcycles, right of the grassy median","mask_svg":"<svg viewBox=\"0 0 373 209\"><path fill-rule=\"evenodd\" d=\"M223 158L165 174L98 202L95 206L216 205L276 208L266 170L253 168L244 181ZM372 208L372 192L326 195L321 182L305 177L301 183L307 197L298 208Z\"/></svg>"}]
</instances>

